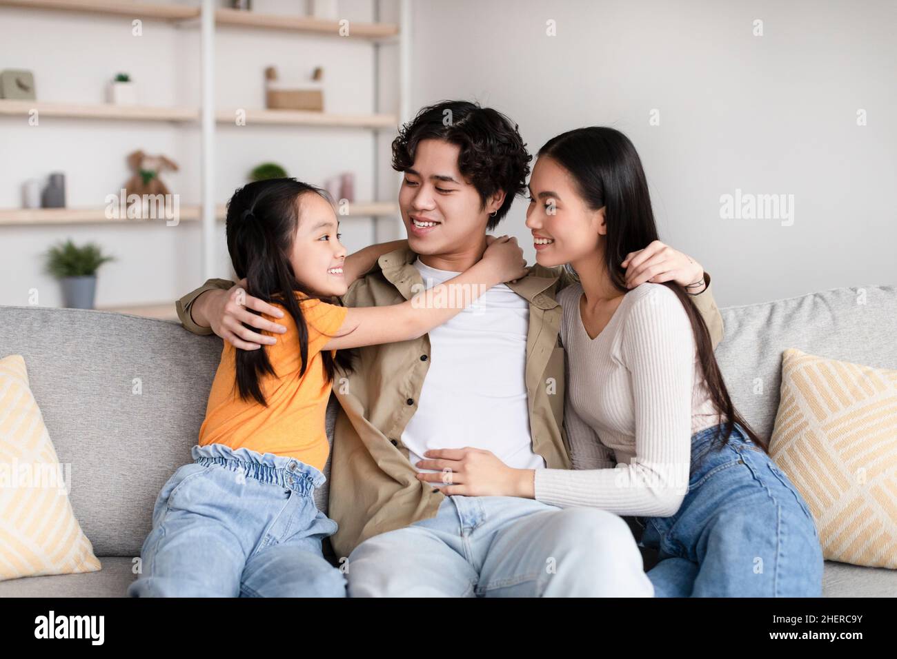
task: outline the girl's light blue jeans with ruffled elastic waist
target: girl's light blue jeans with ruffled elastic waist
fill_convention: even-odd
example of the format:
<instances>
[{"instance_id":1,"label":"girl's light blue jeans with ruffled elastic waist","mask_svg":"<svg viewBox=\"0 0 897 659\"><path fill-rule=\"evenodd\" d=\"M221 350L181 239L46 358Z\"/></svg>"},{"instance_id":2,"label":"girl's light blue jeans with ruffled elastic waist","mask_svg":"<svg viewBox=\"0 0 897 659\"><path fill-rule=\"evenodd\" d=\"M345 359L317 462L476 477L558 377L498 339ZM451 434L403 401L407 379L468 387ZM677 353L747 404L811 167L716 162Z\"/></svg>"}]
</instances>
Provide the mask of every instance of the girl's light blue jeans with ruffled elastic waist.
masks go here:
<instances>
[{"instance_id":1,"label":"girl's light blue jeans with ruffled elastic waist","mask_svg":"<svg viewBox=\"0 0 897 659\"><path fill-rule=\"evenodd\" d=\"M325 476L292 457L222 444L192 448L165 483L134 597L344 597L321 541L336 523L315 506Z\"/></svg>"}]
</instances>

